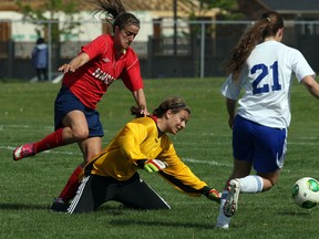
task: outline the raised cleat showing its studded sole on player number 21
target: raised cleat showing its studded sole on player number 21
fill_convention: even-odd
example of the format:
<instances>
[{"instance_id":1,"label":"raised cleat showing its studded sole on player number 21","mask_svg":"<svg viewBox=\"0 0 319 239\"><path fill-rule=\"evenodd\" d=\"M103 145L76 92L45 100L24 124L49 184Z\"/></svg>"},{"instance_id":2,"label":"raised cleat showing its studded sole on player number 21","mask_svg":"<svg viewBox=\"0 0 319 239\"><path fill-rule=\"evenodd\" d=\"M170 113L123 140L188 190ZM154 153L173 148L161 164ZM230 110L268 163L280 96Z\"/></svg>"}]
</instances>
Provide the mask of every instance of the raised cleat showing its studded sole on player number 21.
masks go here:
<instances>
[{"instance_id":1,"label":"raised cleat showing its studded sole on player number 21","mask_svg":"<svg viewBox=\"0 0 319 239\"><path fill-rule=\"evenodd\" d=\"M238 179L231 179L229 181L229 193L223 208L226 217L231 217L237 211L240 184Z\"/></svg>"}]
</instances>

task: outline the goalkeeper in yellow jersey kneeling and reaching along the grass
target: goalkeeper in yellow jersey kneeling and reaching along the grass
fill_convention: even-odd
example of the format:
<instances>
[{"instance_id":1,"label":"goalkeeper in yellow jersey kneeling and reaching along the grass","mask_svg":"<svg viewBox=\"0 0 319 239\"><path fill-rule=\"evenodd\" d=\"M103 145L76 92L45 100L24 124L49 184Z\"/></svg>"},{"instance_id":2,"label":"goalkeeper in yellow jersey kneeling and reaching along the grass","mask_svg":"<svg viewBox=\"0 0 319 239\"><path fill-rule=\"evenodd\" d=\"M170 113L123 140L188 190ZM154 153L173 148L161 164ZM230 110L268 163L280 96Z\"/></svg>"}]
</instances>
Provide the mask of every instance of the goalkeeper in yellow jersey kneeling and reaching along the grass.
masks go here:
<instances>
[{"instance_id":1,"label":"goalkeeper in yellow jersey kneeling and reaching along the grass","mask_svg":"<svg viewBox=\"0 0 319 239\"><path fill-rule=\"evenodd\" d=\"M68 212L94 211L109 200L136 209L169 209L169 205L140 177L138 169L158 173L191 196L205 195L219 202L219 193L192 173L179 159L167 136L167 133L175 135L185 128L191 116L191 108L185 102L172 97L151 116L135 115L137 117L128 122L84 167L81 185Z\"/></svg>"}]
</instances>

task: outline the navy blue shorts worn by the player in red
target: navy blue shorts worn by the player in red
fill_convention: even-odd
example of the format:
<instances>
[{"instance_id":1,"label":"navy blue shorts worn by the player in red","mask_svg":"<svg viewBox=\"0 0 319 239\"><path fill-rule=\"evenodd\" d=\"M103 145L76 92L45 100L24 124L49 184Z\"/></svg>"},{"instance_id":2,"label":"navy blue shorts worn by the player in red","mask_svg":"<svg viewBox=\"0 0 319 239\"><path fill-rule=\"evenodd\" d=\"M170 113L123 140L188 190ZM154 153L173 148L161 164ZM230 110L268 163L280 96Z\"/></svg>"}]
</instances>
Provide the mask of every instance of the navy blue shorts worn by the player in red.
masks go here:
<instances>
[{"instance_id":1,"label":"navy blue shorts worn by the player in red","mask_svg":"<svg viewBox=\"0 0 319 239\"><path fill-rule=\"evenodd\" d=\"M86 107L68 87L61 87L54 102L54 128L64 127L63 117L71 111L84 113L89 125L89 137L103 137L104 132L97 111Z\"/></svg>"}]
</instances>

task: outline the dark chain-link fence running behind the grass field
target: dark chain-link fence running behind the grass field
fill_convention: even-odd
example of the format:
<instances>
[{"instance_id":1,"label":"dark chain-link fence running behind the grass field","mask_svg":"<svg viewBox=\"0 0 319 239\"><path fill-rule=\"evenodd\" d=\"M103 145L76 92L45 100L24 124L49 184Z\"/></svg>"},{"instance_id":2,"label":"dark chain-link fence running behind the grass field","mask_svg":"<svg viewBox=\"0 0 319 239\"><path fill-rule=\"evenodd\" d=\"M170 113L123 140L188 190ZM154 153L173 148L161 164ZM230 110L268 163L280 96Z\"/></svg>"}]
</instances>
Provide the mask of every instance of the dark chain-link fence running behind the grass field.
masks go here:
<instances>
[{"instance_id":1,"label":"dark chain-link fence running behind the grass field","mask_svg":"<svg viewBox=\"0 0 319 239\"><path fill-rule=\"evenodd\" d=\"M176 24L178 28L178 22ZM146 41L134 41L132 48L140 56L144 79L224 76L223 62L249 24L251 21L189 21L183 34L164 38L153 33ZM185 30L185 24L183 28ZM56 69L88 42L50 40L51 79L58 74ZM313 70L319 71L318 21L286 21L282 42L300 50ZM34 44L34 41L12 38L0 40L0 79L29 81L34 77L30 60Z\"/></svg>"}]
</instances>

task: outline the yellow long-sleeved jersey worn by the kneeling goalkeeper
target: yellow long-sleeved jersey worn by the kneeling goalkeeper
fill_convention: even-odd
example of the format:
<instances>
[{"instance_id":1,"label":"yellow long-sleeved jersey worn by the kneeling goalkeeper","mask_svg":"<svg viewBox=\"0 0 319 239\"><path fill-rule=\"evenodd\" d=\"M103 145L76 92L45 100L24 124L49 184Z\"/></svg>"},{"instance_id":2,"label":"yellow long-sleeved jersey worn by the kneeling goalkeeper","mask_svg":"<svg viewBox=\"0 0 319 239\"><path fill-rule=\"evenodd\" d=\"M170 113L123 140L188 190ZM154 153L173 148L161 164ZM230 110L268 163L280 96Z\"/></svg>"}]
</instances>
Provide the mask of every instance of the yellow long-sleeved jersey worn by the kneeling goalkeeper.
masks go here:
<instances>
[{"instance_id":1,"label":"yellow long-sleeved jersey worn by the kneeling goalkeeper","mask_svg":"<svg viewBox=\"0 0 319 239\"><path fill-rule=\"evenodd\" d=\"M156 118L153 117L128 122L83 173L127 180L140 168L136 163L141 159L160 159L168 164L160 172L161 176L184 193L196 196L207 186L181 160L169 137L166 134L158 136Z\"/></svg>"}]
</instances>

